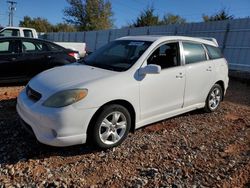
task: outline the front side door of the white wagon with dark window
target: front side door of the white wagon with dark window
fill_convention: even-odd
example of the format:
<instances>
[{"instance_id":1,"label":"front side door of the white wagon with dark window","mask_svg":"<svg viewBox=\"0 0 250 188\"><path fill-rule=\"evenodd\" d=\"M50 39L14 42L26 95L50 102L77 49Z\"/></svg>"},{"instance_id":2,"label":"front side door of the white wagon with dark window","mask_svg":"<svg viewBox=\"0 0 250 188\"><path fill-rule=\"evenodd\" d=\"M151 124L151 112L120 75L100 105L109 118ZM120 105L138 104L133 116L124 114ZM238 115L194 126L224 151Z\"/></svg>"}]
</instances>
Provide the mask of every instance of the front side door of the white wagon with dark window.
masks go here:
<instances>
[{"instance_id":1,"label":"front side door of the white wagon with dark window","mask_svg":"<svg viewBox=\"0 0 250 188\"><path fill-rule=\"evenodd\" d=\"M141 119L180 109L183 105L185 68L180 63L179 43L166 43L148 58L147 64L160 65L159 74L147 74L140 81Z\"/></svg>"}]
</instances>

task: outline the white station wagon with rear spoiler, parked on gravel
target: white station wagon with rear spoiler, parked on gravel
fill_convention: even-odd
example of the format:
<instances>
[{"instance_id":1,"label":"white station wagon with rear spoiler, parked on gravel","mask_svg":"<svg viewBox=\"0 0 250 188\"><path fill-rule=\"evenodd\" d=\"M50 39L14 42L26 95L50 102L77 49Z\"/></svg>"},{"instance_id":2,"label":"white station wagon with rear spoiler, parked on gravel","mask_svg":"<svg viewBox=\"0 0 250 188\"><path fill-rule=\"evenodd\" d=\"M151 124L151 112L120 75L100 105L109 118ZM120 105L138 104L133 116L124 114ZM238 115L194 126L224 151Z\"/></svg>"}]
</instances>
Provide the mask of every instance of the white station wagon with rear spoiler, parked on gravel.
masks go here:
<instances>
[{"instance_id":1,"label":"white station wagon with rear spoiler, parked on gravel","mask_svg":"<svg viewBox=\"0 0 250 188\"><path fill-rule=\"evenodd\" d=\"M216 110L227 87L228 66L215 39L129 36L34 77L17 112L44 144L90 141L105 149L153 122Z\"/></svg>"}]
</instances>

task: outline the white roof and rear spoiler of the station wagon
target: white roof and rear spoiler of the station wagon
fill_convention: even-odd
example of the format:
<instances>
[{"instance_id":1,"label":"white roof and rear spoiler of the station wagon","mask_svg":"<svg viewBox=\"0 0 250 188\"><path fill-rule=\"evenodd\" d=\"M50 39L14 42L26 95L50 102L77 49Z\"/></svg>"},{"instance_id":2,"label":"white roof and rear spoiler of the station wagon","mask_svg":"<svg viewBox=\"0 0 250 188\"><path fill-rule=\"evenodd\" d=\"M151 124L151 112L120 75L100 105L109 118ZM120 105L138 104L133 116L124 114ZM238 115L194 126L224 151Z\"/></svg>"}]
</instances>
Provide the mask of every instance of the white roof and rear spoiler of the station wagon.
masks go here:
<instances>
[{"instance_id":1,"label":"white roof and rear spoiler of the station wagon","mask_svg":"<svg viewBox=\"0 0 250 188\"><path fill-rule=\"evenodd\" d=\"M209 44L212 46L218 46L216 39L214 38L198 38L198 37L187 37L187 36L163 36L163 35L142 35L142 36L127 36L122 37L117 40L139 40L139 41L171 41L171 40L184 40L200 42L204 44Z\"/></svg>"}]
</instances>

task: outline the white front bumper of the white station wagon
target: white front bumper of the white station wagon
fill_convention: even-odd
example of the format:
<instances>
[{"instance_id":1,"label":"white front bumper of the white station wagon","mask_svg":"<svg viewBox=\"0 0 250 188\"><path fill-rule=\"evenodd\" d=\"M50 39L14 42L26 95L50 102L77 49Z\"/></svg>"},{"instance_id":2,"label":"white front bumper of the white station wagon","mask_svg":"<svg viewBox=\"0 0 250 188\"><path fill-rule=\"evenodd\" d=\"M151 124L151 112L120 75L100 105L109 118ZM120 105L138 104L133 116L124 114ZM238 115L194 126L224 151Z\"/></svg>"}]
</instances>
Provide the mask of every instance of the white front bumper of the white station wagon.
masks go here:
<instances>
[{"instance_id":1,"label":"white front bumper of the white station wagon","mask_svg":"<svg viewBox=\"0 0 250 188\"><path fill-rule=\"evenodd\" d=\"M47 108L34 103L24 91L17 99L17 112L33 130L37 140L51 146L86 143L87 126L96 109Z\"/></svg>"}]
</instances>

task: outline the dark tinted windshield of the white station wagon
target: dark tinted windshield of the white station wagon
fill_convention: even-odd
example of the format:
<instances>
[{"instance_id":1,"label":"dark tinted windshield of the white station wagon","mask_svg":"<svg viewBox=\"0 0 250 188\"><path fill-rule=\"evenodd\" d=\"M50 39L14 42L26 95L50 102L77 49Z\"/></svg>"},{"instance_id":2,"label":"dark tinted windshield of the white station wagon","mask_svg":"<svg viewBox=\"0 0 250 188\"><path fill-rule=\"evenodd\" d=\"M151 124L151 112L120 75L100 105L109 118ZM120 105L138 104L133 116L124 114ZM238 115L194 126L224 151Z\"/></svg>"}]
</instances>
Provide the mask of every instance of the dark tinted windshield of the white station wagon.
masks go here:
<instances>
[{"instance_id":1,"label":"dark tinted windshield of the white station wagon","mask_svg":"<svg viewBox=\"0 0 250 188\"><path fill-rule=\"evenodd\" d=\"M103 69L126 71L151 44L149 41L113 41L84 58L82 62Z\"/></svg>"}]
</instances>

